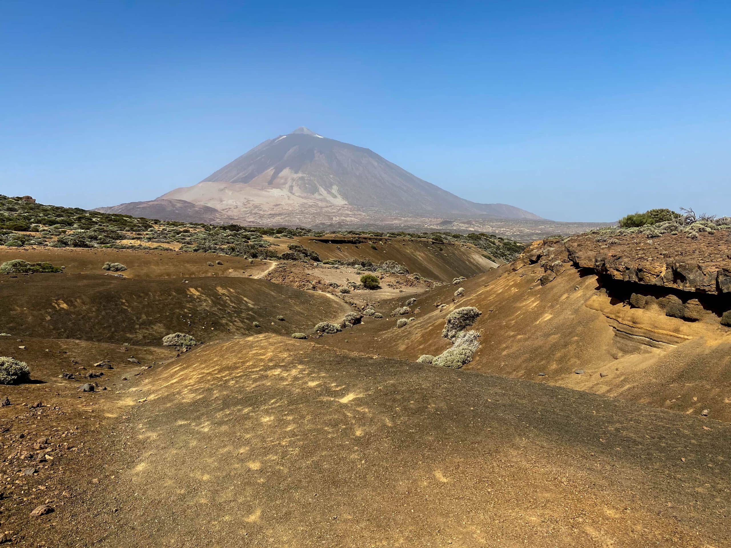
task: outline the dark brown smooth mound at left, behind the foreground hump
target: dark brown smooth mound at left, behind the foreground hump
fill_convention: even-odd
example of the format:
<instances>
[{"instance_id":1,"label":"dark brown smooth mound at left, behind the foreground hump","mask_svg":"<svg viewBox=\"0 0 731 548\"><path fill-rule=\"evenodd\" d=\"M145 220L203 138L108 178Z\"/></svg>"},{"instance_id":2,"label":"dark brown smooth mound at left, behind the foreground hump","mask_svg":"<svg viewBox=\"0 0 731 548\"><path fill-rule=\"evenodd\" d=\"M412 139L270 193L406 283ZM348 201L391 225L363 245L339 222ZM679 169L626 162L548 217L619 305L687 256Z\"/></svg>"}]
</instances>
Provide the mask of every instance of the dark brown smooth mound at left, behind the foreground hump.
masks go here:
<instances>
[{"instance_id":1,"label":"dark brown smooth mound at left, behind the foreground hump","mask_svg":"<svg viewBox=\"0 0 731 548\"><path fill-rule=\"evenodd\" d=\"M254 278L185 283L65 274L7 278L0 308L0 332L133 344L159 344L171 332L200 341L262 331L289 335L350 310L325 294Z\"/></svg>"}]
</instances>

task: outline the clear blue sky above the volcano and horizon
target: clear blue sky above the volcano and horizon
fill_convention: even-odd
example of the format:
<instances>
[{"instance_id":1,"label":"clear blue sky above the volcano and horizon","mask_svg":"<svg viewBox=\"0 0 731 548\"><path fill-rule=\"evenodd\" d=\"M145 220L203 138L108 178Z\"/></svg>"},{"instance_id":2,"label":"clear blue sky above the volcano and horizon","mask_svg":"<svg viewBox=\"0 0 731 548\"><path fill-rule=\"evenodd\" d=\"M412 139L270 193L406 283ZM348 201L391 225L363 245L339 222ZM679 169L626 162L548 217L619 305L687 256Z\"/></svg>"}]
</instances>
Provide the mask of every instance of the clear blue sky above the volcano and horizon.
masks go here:
<instances>
[{"instance_id":1,"label":"clear blue sky above the volcano and horizon","mask_svg":"<svg viewBox=\"0 0 731 548\"><path fill-rule=\"evenodd\" d=\"M475 202L731 214L729 1L0 1L0 193L189 186L308 126Z\"/></svg>"}]
</instances>

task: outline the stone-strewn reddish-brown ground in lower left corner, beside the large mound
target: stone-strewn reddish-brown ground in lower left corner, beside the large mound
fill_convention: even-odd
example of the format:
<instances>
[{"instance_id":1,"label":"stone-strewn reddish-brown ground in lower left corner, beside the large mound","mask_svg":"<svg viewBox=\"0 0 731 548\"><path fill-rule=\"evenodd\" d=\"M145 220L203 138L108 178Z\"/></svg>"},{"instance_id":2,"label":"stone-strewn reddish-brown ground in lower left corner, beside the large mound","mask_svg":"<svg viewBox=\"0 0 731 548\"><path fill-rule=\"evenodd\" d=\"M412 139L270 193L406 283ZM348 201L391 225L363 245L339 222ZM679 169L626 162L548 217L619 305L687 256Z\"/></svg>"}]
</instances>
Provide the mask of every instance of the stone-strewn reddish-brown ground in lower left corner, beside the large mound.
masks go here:
<instances>
[{"instance_id":1,"label":"stone-strewn reddish-brown ground in lower left corner, beside the large mound","mask_svg":"<svg viewBox=\"0 0 731 548\"><path fill-rule=\"evenodd\" d=\"M162 347L0 337L0 356L26 362L33 379L20 386L0 385L0 398L7 396L11 403L0 408L0 535L12 539L11 546L77 546L72 540L76 530L94 527L80 503L99 495L104 488L99 479L115 473L109 429L121 419L111 403L175 355L174 349ZM129 362L129 357L140 363ZM103 359L113 369L94 367ZM76 378L59 378L61 373ZM88 373L104 374L89 379ZM132 380L122 381L125 376ZM84 383L99 387L93 393L78 392ZM35 473L23 474L28 469ZM45 503L55 511L30 516Z\"/></svg>"}]
</instances>

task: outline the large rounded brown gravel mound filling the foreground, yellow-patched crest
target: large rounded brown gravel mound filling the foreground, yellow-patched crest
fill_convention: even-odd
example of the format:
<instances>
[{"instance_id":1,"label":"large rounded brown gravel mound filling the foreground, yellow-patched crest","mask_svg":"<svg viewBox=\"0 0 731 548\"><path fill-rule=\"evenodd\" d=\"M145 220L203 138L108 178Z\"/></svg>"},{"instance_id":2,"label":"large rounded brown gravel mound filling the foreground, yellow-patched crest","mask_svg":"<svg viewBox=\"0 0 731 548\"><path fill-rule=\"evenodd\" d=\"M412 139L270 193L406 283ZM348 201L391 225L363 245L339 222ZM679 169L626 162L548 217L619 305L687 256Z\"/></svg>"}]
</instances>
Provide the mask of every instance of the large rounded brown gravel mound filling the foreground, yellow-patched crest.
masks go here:
<instances>
[{"instance_id":1,"label":"large rounded brown gravel mound filling the foreground, yellow-patched crest","mask_svg":"<svg viewBox=\"0 0 731 548\"><path fill-rule=\"evenodd\" d=\"M89 502L96 545L730 541L719 422L272 335L204 346L143 395Z\"/></svg>"}]
</instances>

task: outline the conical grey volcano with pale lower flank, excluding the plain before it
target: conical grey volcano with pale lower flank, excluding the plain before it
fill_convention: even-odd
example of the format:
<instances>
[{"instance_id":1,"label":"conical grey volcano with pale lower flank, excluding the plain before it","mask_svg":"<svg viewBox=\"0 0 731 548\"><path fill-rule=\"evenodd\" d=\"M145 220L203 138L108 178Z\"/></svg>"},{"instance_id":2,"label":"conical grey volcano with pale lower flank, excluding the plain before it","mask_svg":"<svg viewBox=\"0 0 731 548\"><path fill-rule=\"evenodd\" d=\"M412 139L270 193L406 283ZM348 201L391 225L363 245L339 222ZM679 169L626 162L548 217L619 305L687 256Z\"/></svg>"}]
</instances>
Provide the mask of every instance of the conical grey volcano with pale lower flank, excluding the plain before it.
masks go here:
<instances>
[{"instance_id":1,"label":"conical grey volcano with pale lower flank, excluding the plain before it","mask_svg":"<svg viewBox=\"0 0 731 548\"><path fill-rule=\"evenodd\" d=\"M207 205L227 218L263 224L307 226L384 216L539 219L510 205L470 202L368 148L327 139L305 127L266 140L200 183L153 202L161 199ZM135 207L120 213L135 215Z\"/></svg>"}]
</instances>

